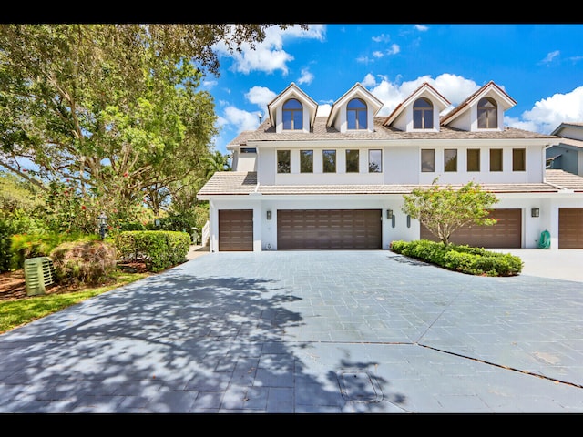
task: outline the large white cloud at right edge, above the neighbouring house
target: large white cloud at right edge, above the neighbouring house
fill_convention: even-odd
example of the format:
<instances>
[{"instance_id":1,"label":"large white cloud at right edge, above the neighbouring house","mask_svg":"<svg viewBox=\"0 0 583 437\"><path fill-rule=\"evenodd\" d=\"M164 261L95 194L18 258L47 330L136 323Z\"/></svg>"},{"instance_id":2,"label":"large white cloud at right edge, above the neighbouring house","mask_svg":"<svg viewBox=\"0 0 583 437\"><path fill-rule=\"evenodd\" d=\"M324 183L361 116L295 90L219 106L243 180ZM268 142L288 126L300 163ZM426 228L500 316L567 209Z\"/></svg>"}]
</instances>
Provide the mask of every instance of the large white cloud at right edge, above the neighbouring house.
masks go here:
<instances>
[{"instance_id":1,"label":"large white cloud at right edge, above the neighbouring house","mask_svg":"<svg viewBox=\"0 0 583 437\"><path fill-rule=\"evenodd\" d=\"M508 126L525 128L532 132L549 134L563 122L583 120L583 86L567 94L555 94L537 101L521 120L508 119Z\"/></svg>"}]
</instances>

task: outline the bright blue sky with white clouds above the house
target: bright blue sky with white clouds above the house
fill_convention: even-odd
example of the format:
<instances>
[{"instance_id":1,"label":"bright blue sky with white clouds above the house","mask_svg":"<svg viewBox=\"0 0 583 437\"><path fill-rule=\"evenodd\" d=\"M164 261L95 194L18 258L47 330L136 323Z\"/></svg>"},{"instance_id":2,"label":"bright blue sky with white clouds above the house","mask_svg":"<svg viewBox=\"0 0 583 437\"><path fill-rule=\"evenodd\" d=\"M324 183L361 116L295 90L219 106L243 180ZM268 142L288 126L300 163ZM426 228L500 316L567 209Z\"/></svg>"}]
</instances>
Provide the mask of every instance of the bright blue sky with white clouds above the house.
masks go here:
<instances>
[{"instance_id":1,"label":"bright blue sky with white clouds above the house","mask_svg":"<svg viewBox=\"0 0 583 437\"><path fill-rule=\"evenodd\" d=\"M423 82L452 106L490 80L517 105L506 125L549 134L561 122L583 122L583 25L331 24L268 30L256 50L236 56L222 47L220 77L202 86L215 99L215 148L259 126L267 104L294 82L327 115L360 82L388 115Z\"/></svg>"}]
</instances>

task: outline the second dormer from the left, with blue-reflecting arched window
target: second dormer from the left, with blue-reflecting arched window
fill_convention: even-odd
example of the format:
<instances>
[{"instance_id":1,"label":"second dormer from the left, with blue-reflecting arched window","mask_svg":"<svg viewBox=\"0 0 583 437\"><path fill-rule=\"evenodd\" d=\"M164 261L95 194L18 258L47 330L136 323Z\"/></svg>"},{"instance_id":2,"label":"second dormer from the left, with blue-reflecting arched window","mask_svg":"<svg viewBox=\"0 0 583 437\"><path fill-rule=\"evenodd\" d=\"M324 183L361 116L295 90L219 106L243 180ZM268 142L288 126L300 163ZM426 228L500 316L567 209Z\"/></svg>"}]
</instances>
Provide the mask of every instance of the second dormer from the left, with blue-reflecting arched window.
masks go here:
<instances>
[{"instance_id":1,"label":"second dormer from the left, with blue-reflecting arched window","mask_svg":"<svg viewBox=\"0 0 583 437\"><path fill-rule=\"evenodd\" d=\"M374 116L382 107L383 102L357 82L334 102L326 127L334 127L341 133L374 132Z\"/></svg>"}]
</instances>

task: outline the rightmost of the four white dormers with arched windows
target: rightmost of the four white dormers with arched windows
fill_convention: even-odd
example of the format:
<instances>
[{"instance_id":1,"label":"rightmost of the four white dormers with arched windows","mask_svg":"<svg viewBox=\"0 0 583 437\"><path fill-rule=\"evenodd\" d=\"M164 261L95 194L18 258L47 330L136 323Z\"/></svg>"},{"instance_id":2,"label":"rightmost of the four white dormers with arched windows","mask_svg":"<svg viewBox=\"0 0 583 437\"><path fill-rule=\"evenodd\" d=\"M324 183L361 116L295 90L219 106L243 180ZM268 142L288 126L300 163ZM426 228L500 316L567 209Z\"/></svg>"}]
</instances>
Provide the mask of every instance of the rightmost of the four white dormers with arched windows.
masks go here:
<instances>
[{"instance_id":1,"label":"rightmost of the four white dormers with arched windows","mask_svg":"<svg viewBox=\"0 0 583 437\"><path fill-rule=\"evenodd\" d=\"M469 132L504 130L504 112L517 102L490 81L458 107L441 117L441 124Z\"/></svg>"}]
</instances>

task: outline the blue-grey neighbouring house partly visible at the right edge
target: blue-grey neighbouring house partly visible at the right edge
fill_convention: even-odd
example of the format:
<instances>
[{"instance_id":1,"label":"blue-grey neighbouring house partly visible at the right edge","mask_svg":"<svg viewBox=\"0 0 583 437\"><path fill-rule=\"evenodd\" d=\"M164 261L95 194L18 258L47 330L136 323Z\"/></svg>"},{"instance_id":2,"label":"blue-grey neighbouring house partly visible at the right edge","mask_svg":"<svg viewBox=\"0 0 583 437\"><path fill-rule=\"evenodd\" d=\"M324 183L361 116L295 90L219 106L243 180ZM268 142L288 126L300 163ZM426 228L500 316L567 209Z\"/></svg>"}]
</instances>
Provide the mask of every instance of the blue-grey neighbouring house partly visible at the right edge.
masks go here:
<instances>
[{"instance_id":1,"label":"blue-grey neighbouring house partly visible at the right edge","mask_svg":"<svg viewBox=\"0 0 583 437\"><path fill-rule=\"evenodd\" d=\"M547 168L583 176L583 123L561 123L551 135L560 138L547 148Z\"/></svg>"}]
</instances>

